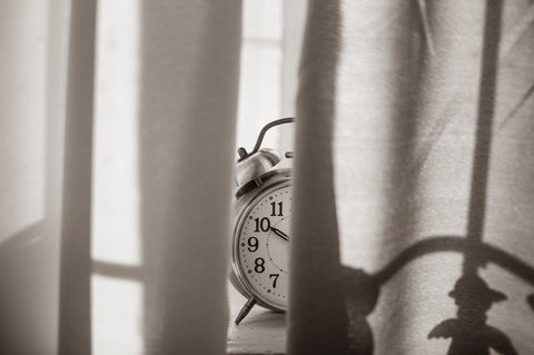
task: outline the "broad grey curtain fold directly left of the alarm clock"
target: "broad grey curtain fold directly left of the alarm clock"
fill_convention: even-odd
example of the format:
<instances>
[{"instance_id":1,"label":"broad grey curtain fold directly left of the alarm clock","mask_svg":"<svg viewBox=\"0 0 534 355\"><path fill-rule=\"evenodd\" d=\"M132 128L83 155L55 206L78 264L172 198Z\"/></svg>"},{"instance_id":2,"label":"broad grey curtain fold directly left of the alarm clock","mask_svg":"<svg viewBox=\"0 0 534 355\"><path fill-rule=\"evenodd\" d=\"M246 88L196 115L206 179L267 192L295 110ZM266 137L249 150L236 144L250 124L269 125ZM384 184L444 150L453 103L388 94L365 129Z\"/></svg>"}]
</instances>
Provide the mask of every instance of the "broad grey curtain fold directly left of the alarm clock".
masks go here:
<instances>
[{"instance_id":1,"label":"broad grey curtain fold directly left of the alarm clock","mask_svg":"<svg viewBox=\"0 0 534 355\"><path fill-rule=\"evenodd\" d=\"M146 352L226 352L240 1L145 1L139 120Z\"/></svg>"}]
</instances>

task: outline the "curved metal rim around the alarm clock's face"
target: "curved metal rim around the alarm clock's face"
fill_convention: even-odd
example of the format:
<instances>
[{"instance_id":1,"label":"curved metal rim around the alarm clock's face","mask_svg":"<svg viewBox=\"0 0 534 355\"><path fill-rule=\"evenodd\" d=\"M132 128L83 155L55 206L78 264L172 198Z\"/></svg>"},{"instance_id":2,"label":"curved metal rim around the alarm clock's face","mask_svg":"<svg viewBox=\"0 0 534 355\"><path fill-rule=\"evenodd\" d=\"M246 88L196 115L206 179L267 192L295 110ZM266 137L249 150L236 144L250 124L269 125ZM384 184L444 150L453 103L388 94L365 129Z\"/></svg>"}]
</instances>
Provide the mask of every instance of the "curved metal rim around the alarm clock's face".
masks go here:
<instances>
[{"instance_id":1,"label":"curved metal rim around the alarm clock's face","mask_svg":"<svg viewBox=\"0 0 534 355\"><path fill-rule=\"evenodd\" d=\"M236 286L236 288L245 297L256 298L257 303L263 307L278 312L286 312L287 305L286 307L279 307L278 305L274 305L256 290L255 286L251 285L248 278L245 276L245 270L243 269L243 265L239 259L239 236L241 234L246 216L250 214L251 209L257 205L257 203L259 203L259 200L268 196L270 193L284 187L293 187L290 169L278 169L269 171L268 176L268 179L266 179L259 187L247 191L236 201L236 209L238 210L238 214L233 236L231 264L233 274L238 285L234 283L234 286Z\"/></svg>"}]
</instances>

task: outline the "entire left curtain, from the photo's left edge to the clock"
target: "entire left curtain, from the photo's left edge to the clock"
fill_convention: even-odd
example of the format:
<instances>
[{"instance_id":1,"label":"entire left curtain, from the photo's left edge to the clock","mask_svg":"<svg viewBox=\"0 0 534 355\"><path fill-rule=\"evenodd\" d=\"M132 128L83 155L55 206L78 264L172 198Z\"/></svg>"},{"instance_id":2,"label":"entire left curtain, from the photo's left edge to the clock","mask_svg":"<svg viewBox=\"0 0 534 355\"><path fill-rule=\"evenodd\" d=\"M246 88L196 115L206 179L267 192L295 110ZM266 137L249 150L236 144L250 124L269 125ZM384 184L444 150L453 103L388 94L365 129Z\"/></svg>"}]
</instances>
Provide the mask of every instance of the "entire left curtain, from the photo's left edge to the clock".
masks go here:
<instances>
[{"instance_id":1,"label":"entire left curtain, from the photo's left edge to the clock","mask_svg":"<svg viewBox=\"0 0 534 355\"><path fill-rule=\"evenodd\" d=\"M91 285L93 270L142 284L142 312L134 319L142 352L225 353L240 1L138 4L139 32L131 33L140 43L138 81L131 82L138 117L131 119L139 196L121 196L126 205L139 204L136 265L91 257L93 216L100 216L92 178L102 176L95 171L96 142L106 141L101 127L108 125L95 121L95 106L102 105L95 102L100 6L0 4L0 353L97 352L91 307L101 300L91 293L100 287ZM131 126L118 130L118 149ZM106 174L113 181L113 167ZM122 347L98 353L130 353L122 334L109 334Z\"/></svg>"}]
</instances>

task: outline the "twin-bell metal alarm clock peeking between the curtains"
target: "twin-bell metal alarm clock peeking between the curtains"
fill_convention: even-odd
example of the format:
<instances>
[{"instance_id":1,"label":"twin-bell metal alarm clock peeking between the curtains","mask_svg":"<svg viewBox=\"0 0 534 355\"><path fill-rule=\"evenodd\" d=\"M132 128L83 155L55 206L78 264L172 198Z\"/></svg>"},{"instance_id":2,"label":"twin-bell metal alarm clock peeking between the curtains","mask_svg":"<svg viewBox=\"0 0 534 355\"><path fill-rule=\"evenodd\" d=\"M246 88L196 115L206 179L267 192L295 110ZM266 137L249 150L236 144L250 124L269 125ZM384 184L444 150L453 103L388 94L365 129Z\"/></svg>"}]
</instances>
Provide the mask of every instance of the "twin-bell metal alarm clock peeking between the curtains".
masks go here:
<instances>
[{"instance_id":1,"label":"twin-bell metal alarm clock peeking between the curtains","mask_svg":"<svg viewBox=\"0 0 534 355\"><path fill-rule=\"evenodd\" d=\"M260 146L268 129L294 120L268 124L250 152L238 149L230 282L248 302L236 325L256 304L277 312L287 309L293 174L277 168L283 157L276 150ZM293 158L293 154L285 157Z\"/></svg>"}]
</instances>

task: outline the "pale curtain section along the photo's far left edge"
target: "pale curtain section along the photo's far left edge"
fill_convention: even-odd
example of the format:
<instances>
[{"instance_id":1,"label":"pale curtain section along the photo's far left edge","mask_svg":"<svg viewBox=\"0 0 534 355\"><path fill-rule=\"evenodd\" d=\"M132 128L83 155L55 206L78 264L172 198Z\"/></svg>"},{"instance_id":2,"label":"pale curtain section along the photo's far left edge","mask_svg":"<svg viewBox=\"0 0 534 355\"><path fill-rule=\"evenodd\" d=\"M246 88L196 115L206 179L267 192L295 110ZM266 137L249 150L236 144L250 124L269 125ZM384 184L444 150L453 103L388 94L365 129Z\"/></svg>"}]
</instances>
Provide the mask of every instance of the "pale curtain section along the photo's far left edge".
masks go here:
<instances>
[{"instance_id":1,"label":"pale curtain section along the photo's far left edge","mask_svg":"<svg viewBox=\"0 0 534 355\"><path fill-rule=\"evenodd\" d=\"M55 354L66 8L0 2L0 353Z\"/></svg>"}]
</instances>

